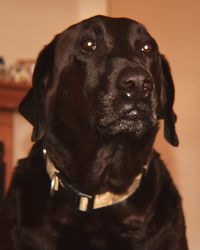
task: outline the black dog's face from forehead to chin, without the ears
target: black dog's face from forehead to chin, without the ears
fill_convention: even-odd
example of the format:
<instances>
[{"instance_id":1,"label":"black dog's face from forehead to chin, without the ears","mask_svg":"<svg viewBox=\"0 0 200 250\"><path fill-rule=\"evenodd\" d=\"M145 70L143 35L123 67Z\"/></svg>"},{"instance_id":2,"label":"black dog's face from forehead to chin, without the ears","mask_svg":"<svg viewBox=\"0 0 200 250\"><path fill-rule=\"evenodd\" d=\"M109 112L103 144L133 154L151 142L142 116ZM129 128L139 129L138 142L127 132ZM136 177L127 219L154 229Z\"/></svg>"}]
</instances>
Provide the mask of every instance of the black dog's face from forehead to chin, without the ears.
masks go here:
<instances>
[{"instance_id":1,"label":"black dog's face from forehead to chin, without the ears","mask_svg":"<svg viewBox=\"0 0 200 250\"><path fill-rule=\"evenodd\" d=\"M55 114L65 128L78 124L142 136L156 124L160 58L143 26L92 18L61 34L59 42Z\"/></svg>"}]
</instances>

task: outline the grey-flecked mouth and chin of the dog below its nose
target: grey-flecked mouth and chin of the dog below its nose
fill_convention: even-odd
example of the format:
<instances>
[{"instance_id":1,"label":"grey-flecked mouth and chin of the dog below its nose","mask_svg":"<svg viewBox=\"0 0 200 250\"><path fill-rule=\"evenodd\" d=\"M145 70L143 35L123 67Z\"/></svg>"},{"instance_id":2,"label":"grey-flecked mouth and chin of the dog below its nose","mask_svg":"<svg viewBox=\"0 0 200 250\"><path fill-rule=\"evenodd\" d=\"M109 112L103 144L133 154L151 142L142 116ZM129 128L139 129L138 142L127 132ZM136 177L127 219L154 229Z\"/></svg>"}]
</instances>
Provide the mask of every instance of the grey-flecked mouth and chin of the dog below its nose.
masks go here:
<instances>
[{"instance_id":1,"label":"grey-flecked mouth and chin of the dog below its nose","mask_svg":"<svg viewBox=\"0 0 200 250\"><path fill-rule=\"evenodd\" d=\"M156 123L155 108L150 104L140 102L137 105L123 104L117 108L113 105L104 107L99 115L97 127L102 134L132 133L141 137Z\"/></svg>"}]
</instances>

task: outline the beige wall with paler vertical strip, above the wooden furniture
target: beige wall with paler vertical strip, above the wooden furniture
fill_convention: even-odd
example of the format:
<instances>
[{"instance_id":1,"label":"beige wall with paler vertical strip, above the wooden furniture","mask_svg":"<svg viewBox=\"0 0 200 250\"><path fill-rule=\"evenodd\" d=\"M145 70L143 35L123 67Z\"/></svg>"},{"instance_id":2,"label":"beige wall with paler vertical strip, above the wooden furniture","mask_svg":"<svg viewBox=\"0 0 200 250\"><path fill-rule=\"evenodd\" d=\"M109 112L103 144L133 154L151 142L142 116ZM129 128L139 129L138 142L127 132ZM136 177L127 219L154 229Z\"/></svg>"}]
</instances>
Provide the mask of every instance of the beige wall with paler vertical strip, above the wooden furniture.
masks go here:
<instances>
[{"instance_id":1,"label":"beige wall with paler vertical strip, above the wooden furniture","mask_svg":"<svg viewBox=\"0 0 200 250\"><path fill-rule=\"evenodd\" d=\"M35 58L56 33L106 11L106 0L1 0L0 55L8 64Z\"/></svg>"}]
</instances>

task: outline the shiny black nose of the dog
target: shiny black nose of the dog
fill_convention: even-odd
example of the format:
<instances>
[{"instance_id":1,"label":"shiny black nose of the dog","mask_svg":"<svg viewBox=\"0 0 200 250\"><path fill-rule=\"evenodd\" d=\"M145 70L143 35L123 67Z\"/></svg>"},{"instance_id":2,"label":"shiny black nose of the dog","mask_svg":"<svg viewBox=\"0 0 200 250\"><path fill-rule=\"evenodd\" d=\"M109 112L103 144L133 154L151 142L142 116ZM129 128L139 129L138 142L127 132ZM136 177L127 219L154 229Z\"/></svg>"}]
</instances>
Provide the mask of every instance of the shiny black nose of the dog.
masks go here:
<instances>
[{"instance_id":1,"label":"shiny black nose of the dog","mask_svg":"<svg viewBox=\"0 0 200 250\"><path fill-rule=\"evenodd\" d=\"M153 89L153 81L151 75L141 67L123 68L116 81L119 91L128 93L137 98L148 97Z\"/></svg>"}]
</instances>

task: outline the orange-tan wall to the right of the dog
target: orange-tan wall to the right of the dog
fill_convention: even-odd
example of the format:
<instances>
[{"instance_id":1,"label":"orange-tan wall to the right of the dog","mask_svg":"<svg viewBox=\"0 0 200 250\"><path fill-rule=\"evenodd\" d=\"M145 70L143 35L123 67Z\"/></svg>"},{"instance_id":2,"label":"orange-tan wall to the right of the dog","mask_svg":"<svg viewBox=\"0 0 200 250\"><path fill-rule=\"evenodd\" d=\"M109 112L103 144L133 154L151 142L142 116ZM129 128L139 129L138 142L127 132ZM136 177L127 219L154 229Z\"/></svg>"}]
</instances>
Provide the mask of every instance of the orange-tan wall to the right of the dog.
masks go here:
<instances>
[{"instance_id":1,"label":"orange-tan wall to the right of the dog","mask_svg":"<svg viewBox=\"0 0 200 250\"><path fill-rule=\"evenodd\" d=\"M145 24L170 61L176 88L180 146L172 148L160 133L157 148L183 196L190 250L199 250L200 1L109 0L109 14Z\"/></svg>"}]
</instances>

